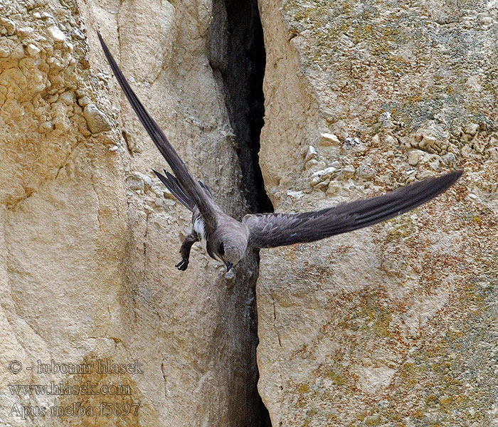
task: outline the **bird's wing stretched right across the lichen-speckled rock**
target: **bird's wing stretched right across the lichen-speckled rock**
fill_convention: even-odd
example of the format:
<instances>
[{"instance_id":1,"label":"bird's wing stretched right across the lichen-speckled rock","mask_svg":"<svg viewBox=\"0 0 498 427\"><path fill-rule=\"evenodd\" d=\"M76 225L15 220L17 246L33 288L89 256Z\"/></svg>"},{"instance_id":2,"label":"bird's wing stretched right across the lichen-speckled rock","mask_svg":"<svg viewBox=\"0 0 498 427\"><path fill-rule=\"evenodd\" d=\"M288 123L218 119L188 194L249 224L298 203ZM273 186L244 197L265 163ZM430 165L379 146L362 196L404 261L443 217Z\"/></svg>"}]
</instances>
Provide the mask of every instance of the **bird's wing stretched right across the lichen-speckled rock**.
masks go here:
<instances>
[{"instance_id":1,"label":"bird's wing stretched right across the lichen-speckled rock","mask_svg":"<svg viewBox=\"0 0 498 427\"><path fill-rule=\"evenodd\" d=\"M382 196L340 204L333 208L302 214L251 214L243 218L249 230L249 246L276 246L306 243L334 234L371 226L433 199L455 183L462 171L425 179Z\"/></svg>"}]
</instances>

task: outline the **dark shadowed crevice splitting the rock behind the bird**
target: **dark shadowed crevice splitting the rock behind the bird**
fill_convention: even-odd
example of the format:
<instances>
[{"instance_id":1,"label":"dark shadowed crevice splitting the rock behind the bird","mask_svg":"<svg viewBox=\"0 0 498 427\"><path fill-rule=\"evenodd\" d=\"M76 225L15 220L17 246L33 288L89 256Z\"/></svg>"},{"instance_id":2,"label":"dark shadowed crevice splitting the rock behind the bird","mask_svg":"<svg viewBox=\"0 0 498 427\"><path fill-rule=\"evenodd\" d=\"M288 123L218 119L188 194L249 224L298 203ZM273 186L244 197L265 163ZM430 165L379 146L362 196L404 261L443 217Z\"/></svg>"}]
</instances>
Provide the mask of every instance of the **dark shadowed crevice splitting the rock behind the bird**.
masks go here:
<instances>
[{"instance_id":1,"label":"dark shadowed crevice splitting the rock behind the bird","mask_svg":"<svg viewBox=\"0 0 498 427\"><path fill-rule=\"evenodd\" d=\"M213 0L210 63L213 74L225 94L225 103L235 133L235 150L243 174L244 196L252 213L272 212L259 164L260 133L264 124L265 44L257 0ZM259 253L255 252L259 265ZM257 265L257 266L258 266ZM253 295L255 282L253 280ZM270 416L258 394L258 315L255 297L247 307L251 320L253 349L250 370L253 384L248 384L248 419L246 426L271 427ZM242 427L242 426L240 426Z\"/></svg>"}]
</instances>

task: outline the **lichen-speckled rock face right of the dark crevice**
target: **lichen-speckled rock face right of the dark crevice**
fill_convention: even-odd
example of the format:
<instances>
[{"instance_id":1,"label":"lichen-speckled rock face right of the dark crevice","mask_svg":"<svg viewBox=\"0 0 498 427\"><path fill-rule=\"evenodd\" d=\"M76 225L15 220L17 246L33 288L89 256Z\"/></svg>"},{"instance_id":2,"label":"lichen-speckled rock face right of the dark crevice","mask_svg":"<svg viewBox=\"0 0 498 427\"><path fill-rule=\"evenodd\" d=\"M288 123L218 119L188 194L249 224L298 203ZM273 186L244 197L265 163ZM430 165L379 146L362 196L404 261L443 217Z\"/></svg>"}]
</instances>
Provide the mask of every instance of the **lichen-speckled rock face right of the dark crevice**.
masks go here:
<instances>
[{"instance_id":1,"label":"lichen-speckled rock face right of the dark crevice","mask_svg":"<svg viewBox=\"0 0 498 427\"><path fill-rule=\"evenodd\" d=\"M260 0L275 211L465 169L410 214L261 251L273 426L498 425L497 7Z\"/></svg>"}]
</instances>

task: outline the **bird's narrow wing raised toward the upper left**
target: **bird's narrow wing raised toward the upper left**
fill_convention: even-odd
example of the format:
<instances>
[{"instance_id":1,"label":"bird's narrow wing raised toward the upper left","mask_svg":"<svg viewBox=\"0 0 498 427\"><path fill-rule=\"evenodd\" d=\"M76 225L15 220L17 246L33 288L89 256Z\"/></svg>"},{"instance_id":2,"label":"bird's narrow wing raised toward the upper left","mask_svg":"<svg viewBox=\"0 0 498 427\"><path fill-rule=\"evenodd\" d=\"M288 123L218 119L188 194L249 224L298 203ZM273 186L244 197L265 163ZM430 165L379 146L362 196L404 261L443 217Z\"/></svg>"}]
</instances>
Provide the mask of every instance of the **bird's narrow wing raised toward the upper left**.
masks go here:
<instances>
[{"instance_id":1,"label":"bird's narrow wing raised toward the upper left","mask_svg":"<svg viewBox=\"0 0 498 427\"><path fill-rule=\"evenodd\" d=\"M154 119L150 117L147 110L145 110L142 102L139 101L137 95L135 95L132 88L130 88L126 78L124 78L122 71L117 66L117 63L112 57L109 48L107 48L102 36L100 36L100 33L97 34L105 53L105 57L111 66L112 72L116 76L117 81L120 83L124 95L126 95L129 103L132 105L134 112L137 113L137 116L154 141L154 144L156 144L156 147L159 149L164 159L166 159L166 162L168 162L169 167L171 167L174 176L176 176L176 179L181 186L181 189L187 196L189 196L188 198L196 204L201 216L204 219L205 225L210 228L215 228L216 212L213 209L211 199L206 195L206 192L201 188L198 182L191 176L183 160L179 157L175 149L171 146L169 140L166 138L166 135L164 135Z\"/></svg>"}]
</instances>

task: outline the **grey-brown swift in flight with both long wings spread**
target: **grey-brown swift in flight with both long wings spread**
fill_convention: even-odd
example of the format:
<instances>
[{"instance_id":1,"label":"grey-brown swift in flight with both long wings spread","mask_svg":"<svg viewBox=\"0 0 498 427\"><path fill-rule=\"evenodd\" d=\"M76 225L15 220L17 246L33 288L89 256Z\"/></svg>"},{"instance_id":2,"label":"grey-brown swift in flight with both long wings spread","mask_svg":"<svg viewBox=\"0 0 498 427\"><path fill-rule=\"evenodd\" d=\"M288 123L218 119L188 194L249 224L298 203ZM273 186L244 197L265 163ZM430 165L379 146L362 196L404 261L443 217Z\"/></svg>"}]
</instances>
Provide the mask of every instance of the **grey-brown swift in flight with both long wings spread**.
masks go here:
<instances>
[{"instance_id":1,"label":"grey-brown swift in flight with both long wings spread","mask_svg":"<svg viewBox=\"0 0 498 427\"><path fill-rule=\"evenodd\" d=\"M462 175L462 170L456 170L416 181L381 196L350 201L319 211L247 214L242 221L238 221L221 209L206 184L190 174L164 132L129 86L100 32L97 32L97 36L124 95L173 172L171 174L164 170L164 174L161 174L152 169L154 174L192 212L192 226L181 243L181 260L175 265L178 270L187 269L191 247L196 242L202 244L211 258L223 263L228 273L250 248L309 243L386 221L430 201L455 184Z\"/></svg>"}]
</instances>

